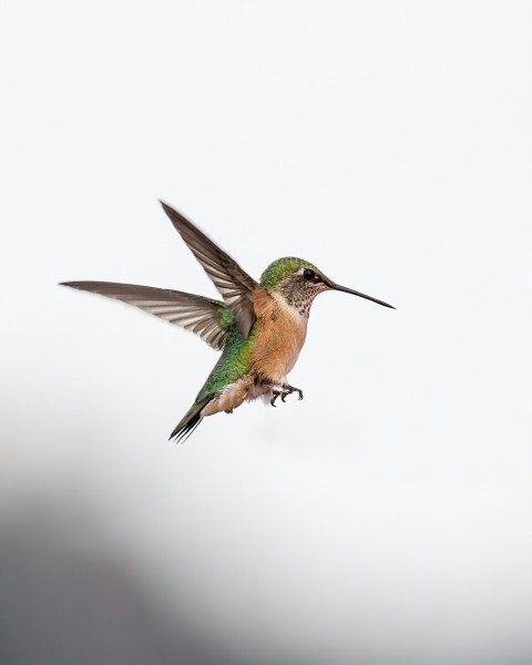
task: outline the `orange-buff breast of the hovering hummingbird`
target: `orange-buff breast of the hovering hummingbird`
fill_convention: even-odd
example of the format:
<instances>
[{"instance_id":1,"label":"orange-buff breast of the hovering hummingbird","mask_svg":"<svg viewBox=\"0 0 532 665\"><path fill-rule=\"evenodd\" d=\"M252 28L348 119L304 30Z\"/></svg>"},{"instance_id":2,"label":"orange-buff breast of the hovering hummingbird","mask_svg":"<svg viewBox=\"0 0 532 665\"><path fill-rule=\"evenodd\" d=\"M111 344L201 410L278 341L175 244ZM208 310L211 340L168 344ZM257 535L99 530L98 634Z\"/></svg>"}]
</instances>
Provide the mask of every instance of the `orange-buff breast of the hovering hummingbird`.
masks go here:
<instances>
[{"instance_id":1,"label":"orange-buff breast of the hovering hummingbird","mask_svg":"<svg viewBox=\"0 0 532 665\"><path fill-rule=\"evenodd\" d=\"M252 354L253 371L260 378L286 380L305 344L307 318L283 296L257 289L254 297L257 338Z\"/></svg>"}]
</instances>

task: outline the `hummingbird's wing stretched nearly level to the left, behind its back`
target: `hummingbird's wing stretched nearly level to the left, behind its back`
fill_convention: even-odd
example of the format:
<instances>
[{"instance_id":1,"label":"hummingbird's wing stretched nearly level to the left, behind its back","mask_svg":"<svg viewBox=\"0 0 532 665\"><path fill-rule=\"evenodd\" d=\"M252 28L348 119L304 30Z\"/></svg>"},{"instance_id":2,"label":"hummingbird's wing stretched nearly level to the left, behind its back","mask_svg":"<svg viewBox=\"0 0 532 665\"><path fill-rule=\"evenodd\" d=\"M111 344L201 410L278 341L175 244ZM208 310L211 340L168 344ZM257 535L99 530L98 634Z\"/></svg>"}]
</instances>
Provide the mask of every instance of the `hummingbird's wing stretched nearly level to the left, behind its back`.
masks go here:
<instances>
[{"instance_id":1,"label":"hummingbird's wing stretched nearly level to the left, behind its back","mask_svg":"<svg viewBox=\"0 0 532 665\"><path fill-rule=\"evenodd\" d=\"M219 300L167 288L113 282L64 282L62 286L100 294L140 307L171 324L192 330L217 350L224 348L228 328L234 320L227 306Z\"/></svg>"}]
</instances>

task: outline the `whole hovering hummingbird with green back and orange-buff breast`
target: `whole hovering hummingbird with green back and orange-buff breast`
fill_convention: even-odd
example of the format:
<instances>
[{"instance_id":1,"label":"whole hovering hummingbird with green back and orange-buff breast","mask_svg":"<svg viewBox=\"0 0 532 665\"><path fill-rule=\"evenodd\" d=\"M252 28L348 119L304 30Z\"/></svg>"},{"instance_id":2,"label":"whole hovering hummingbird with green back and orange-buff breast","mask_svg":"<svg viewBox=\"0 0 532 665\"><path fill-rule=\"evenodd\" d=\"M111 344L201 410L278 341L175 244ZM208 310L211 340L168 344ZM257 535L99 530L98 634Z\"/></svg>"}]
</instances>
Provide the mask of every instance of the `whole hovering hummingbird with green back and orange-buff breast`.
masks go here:
<instances>
[{"instance_id":1,"label":"whole hovering hummingbird with green back and orange-buff breast","mask_svg":"<svg viewBox=\"0 0 532 665\"><path fill-rule=\"evenodd\" d=\"M185 440L205 417L233 413L245 401L263 398L276 407L279 398L284 402L294 392L303 399L301 389L290 386L287 375L305 344L310 307L318 294L344 291L395 309L336 284L308 260L294 256L274 260L256 282L190 219L170 205L161 205L223 300L113 282L64 282L61 286L134 305L192 330L222 351L171 440Z\"/></svg>"}]
</instances>

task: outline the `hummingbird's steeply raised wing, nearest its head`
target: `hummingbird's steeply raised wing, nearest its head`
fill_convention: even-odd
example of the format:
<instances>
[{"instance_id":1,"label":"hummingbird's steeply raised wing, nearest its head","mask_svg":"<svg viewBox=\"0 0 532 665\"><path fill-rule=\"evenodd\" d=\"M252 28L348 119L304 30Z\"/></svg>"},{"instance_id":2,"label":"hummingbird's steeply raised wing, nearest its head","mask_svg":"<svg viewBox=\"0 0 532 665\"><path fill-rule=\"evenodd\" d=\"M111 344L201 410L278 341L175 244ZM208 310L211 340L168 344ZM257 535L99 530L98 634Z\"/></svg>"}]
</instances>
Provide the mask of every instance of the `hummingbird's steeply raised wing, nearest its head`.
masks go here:
<instances>
[{"instance_id":1,"label":"hummingbird's steeply raised wing, nearest its head","mask_svg":"<svg viewBox=\"0 0 532 665\"><path fill-rule=\"evenodd\" d=\"M247 337L256 319L253 309L253 290L258 284L192 222L170 205L163 202L161 204L181 237L214 282L227 307L235 315L242 335Z\"/></svg>"}]
</instances>

